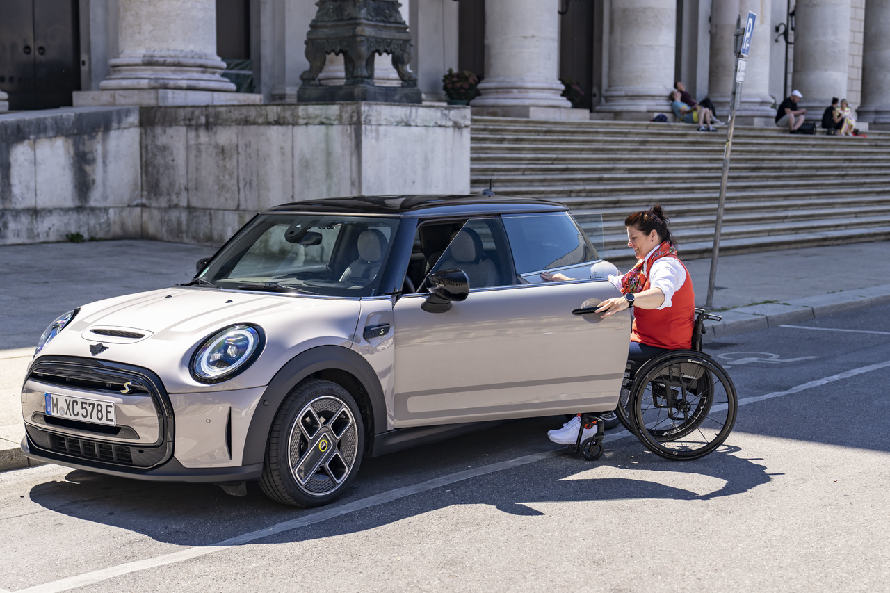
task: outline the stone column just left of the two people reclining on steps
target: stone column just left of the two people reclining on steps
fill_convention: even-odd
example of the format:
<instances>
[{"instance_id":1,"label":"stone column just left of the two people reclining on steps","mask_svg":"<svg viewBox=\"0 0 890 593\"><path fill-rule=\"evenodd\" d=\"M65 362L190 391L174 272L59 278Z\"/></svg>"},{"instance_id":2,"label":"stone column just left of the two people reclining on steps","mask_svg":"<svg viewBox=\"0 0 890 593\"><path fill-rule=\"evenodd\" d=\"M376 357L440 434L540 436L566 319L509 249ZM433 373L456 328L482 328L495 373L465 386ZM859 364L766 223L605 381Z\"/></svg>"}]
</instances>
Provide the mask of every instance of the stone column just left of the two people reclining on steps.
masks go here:
<instances>
[{"instance_id":1,"label":"stone column just left of the two people reclining on steps","mask_svg":"<svg viewBox=\"0 0 890 593\"><path fill-rule=\"evenodd\" d=\"M608 82L596 114L649 120L669 112L675 53L676 0L612 0Z\"/></svg>"}]
</instances>

